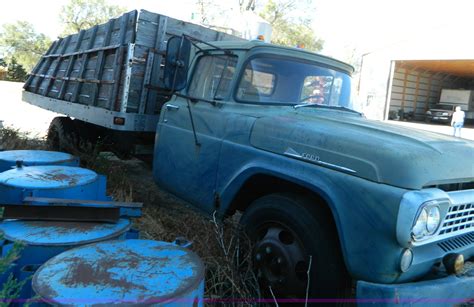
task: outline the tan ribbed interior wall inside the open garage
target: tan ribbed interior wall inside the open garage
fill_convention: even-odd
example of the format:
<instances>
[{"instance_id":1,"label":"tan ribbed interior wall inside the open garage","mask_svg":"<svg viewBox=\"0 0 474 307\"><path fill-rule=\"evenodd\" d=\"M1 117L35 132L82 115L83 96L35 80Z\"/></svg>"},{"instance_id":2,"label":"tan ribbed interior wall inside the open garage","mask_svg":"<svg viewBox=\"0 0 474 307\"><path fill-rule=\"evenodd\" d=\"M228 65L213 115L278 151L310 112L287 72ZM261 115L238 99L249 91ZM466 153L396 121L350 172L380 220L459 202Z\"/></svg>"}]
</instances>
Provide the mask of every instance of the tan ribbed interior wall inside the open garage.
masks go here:
<instances>
[{"instance_id":1,"label":"tan ribbed interior wall inside the open garage","mask_svg":"<svg viewBox=\"0 0 474 307\"><path fill-rule=\"evenodd\" d=\"M441 89L465 88L468 78L426 70L401 67L398 63L393 74L390 111L414 112L415 119L423 120L425 112L439 102Z\"/></svg>"}]
</instances>

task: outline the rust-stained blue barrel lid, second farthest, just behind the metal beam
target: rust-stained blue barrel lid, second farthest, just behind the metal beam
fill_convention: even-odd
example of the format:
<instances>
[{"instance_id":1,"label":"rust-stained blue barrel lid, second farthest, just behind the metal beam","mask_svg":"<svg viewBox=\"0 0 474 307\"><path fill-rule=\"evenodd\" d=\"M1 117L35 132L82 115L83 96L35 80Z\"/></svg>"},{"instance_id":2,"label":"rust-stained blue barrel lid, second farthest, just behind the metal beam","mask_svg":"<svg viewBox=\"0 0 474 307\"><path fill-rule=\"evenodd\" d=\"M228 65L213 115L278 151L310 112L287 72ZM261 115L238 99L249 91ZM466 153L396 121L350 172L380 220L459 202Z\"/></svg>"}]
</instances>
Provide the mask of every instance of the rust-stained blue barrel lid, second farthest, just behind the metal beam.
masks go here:
<instances>
[{"instance_id":1,"label":"rust-stained blue barrel lid, second farthest, just behind the metal beam","mask_svg":"<svg viewBox=\"0 0 474 307\"><path fill-rule=\"evenodd\" d=\"M26 166L0 173L0 185L25 189L70 188L95 180L94 171L63 165Z\"/></svg>"}]
</instances>

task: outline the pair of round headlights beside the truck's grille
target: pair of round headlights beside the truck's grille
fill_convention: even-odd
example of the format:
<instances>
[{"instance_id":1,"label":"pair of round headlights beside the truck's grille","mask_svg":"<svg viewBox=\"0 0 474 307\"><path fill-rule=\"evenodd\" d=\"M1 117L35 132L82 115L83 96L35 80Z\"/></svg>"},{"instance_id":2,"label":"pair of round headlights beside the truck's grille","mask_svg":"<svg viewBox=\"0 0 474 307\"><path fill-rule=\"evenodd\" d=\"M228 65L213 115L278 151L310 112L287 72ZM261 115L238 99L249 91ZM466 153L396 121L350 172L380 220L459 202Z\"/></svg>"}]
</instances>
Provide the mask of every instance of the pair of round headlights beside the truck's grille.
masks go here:
<instances>
[{"instance_id":1,"label":"pair of round headlights beside the truck's grille","mask_svg":"<svg viewBox=\"0 0 474 307\"><path fill-rule=\"evenodd\" d=\"M438 230L441 222L441 214L439 207L428 203L425 205L418 215L412 228L412 236L415 240L422 240L426 236L433 235Z\"/></svg>"}]
</instances>

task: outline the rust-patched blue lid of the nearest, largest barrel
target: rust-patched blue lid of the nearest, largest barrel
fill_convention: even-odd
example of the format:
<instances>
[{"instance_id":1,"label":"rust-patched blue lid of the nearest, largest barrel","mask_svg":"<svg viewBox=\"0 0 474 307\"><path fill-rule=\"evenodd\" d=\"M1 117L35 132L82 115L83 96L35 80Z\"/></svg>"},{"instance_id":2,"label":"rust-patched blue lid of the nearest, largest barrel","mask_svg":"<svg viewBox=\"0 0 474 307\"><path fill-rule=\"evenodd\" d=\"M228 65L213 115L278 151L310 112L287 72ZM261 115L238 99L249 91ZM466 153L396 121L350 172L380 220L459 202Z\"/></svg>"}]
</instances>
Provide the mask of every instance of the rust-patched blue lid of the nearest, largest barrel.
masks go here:
<instances>
[{"instance_id":1,"label":"rust-patched blue lid of the nearest, largest barrel","mask_svg":"<svg viewBox=\"0 0 474 307\"><path fill-rule=\"evenodd\" d=\"M183 299L203 278L202 261L190 250L123 240L59 254L36 271L32 283L36 294L53 304L160 304Z\"/></svg>"}]
</instances>

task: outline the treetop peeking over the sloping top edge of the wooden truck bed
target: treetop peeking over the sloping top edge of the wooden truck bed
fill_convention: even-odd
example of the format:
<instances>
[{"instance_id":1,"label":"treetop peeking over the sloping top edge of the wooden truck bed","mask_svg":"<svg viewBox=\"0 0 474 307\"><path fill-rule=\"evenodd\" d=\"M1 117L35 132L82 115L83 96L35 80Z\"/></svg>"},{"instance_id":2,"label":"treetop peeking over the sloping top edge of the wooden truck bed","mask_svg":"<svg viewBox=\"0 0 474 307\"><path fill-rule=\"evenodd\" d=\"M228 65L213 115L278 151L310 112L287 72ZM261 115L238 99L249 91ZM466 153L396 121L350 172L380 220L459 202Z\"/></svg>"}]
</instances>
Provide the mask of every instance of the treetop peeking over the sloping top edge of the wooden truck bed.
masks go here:
<instances>
[{"instance_id":1,"label":"treetop peeking over the sloping top edge of the wooden truck bed","mask_svg":"<svg viewBox=\"0 0 474 307\"><path fill-rule=\"evenodd\" d=\"M70 0L63 6L59 15L59 19L64 23L62 35L74 34L105 23L125 12L125 8L109 5L105 0Z\"/></svg>"}]
</instances>

